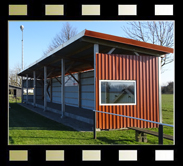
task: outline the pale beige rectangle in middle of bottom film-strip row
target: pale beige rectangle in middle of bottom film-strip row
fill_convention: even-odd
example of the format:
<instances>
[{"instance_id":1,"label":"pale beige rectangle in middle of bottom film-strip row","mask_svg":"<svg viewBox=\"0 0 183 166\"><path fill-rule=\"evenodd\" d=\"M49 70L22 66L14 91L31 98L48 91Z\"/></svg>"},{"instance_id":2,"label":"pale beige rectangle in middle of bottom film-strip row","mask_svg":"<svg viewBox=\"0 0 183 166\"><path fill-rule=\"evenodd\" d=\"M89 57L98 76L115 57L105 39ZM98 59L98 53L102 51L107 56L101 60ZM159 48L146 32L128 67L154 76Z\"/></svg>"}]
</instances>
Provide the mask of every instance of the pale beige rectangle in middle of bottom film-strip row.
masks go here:
<instances>
[{"instance_id":1,"label":"pale beige rectangle in middle of bottom film-strip row","mask_svg":"<svg viewBox=\"0 0 183 166\"><path fill-rule=\"evenodd\" d=\"M82 160L83 161L100 161L101 151L100 150L83 150Z\"/></svg>"}]
</instances>

